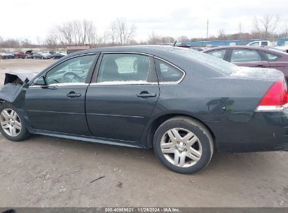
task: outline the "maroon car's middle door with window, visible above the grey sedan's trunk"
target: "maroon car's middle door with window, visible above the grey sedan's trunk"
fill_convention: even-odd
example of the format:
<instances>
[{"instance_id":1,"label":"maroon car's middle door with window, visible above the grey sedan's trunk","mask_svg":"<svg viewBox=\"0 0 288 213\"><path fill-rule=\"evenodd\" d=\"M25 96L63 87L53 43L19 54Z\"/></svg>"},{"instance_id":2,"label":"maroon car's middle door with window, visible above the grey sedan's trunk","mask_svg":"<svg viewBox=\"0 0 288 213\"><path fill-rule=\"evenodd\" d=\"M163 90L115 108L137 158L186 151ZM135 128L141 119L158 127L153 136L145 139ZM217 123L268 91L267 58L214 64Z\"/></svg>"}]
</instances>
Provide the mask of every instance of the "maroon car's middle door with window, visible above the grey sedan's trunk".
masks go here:
<instances>
[{"instance_id":1,"label":"maroon car's middle door with window, visible above the grey sedan's trunk","mask_svg":"<svg viewBox=\"0 0 288 213\"><path fill-rule=\"evenodd\" d=\"M270 67L257 50L231 49L229 60L240 67Z\"/></svg>"}]
</instances>

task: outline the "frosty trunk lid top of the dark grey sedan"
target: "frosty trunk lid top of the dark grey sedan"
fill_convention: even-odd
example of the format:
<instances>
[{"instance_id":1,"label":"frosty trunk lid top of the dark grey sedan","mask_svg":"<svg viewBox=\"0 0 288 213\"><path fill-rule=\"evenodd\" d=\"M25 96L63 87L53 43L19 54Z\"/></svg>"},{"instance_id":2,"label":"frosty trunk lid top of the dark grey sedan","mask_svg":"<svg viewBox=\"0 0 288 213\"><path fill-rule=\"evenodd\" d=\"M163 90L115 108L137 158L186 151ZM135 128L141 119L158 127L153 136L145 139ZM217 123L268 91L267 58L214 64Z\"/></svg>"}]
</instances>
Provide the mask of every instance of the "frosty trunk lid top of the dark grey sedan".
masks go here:
<instances>
[{"instance_id":1,"label":"frosty trunk lid top of the dark grey sedan","mask_svg":"<svg viewBox=\"0 0 288 213\"><path fill-rule=\"evenodd\" d=\"M267 81L275 81L284 78L282 71L258 67L239 67L235 72L230 74L230 76L233 78L260 79Z\"/></svg>"}]
</instances>

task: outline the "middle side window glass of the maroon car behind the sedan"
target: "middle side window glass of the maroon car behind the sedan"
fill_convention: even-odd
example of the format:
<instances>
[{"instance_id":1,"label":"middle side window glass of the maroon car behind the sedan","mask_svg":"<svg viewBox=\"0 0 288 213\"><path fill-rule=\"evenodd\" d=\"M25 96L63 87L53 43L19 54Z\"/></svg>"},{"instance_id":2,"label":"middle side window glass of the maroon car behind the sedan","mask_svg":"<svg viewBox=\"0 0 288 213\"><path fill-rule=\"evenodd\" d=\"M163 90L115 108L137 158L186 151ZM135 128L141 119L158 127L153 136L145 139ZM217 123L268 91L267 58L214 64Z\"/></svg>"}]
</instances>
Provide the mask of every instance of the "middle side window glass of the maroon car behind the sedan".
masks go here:
<instances>
[{"instance_id":1,"label":"middle side window glass of the maroon car behind the sedan","mask_svg":"<svg viewBox=\"0 0 288 213\"><path fill-rule=\"evenodd\" d=\"M231 62L260 62L261 56L255 50L233 50Z\"/></svg>"}]
</instances>

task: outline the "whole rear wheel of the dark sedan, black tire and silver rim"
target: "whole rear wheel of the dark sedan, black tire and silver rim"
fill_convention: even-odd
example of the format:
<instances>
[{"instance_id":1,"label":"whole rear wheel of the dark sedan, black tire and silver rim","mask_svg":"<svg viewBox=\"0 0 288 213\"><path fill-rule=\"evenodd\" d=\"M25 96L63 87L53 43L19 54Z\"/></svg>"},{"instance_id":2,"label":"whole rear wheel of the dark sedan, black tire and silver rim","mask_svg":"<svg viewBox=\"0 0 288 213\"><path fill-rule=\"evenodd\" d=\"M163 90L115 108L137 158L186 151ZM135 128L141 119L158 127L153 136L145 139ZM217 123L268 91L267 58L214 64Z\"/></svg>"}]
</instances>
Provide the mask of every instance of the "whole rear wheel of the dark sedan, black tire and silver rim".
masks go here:
<instances>
[{"instance_id":1,"label":"whole rear wheel of the dark sedan, black tire and silver rim","mask_svg":"<svg viewBox=\"0 0 288 213\"><path fill-rule=\"evenodd\" d=\"M153 138L153 149L160 162L170 170L191 174L210 163L214 143L203 123L179 116L159 126Z\"/></svg>"}]
</instances>

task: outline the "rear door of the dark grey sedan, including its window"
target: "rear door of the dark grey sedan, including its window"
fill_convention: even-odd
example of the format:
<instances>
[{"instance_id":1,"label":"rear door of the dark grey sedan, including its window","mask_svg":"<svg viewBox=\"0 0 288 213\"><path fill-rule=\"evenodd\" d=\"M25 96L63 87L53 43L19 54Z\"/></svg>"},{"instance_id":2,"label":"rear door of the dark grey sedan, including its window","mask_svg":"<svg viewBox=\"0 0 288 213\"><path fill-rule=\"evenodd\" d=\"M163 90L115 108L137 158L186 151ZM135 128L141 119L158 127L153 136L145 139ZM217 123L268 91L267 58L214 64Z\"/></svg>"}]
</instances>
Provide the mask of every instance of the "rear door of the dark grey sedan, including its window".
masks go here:
<instances>
[{"instance_id":1,"label":"rear door of the dark grey sedan, including its window","mask_svg":"<svg viewBox=\"0 0 288 213\"><path fill-rule=\"evenodd\" d=\"M106 53L97 67L86 95L92 135L137 142L159 97L153 57Z\"/></svg>"}]
</instances>

